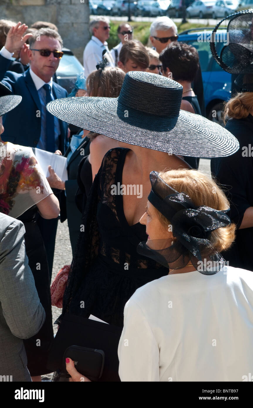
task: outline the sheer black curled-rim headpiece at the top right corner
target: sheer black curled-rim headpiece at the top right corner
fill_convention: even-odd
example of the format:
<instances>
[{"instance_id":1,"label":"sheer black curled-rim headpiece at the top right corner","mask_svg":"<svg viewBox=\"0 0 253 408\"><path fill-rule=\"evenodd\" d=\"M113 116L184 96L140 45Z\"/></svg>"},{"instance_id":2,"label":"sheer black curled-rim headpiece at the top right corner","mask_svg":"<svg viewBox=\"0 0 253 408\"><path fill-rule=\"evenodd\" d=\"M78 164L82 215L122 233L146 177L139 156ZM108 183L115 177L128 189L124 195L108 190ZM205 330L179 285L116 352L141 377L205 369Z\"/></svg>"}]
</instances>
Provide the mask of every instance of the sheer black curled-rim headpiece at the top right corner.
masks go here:
<instances>
[{"instance_id":1,"label":"sheer black curled-rim headpiece at the top right corner","mask_svg":"<svg viewBox=\"0 0 253 408\"><path fill-rule=\"evenodd\" d=\"M228 44L221 49L219 56L216 49L216 32L226 19L229 19ZM224 71L238 74L235 84L244 92L253 92L253 10L239 11L221 20L213 30L210 48L213 58Z\"/></svg>"}]
</instances>

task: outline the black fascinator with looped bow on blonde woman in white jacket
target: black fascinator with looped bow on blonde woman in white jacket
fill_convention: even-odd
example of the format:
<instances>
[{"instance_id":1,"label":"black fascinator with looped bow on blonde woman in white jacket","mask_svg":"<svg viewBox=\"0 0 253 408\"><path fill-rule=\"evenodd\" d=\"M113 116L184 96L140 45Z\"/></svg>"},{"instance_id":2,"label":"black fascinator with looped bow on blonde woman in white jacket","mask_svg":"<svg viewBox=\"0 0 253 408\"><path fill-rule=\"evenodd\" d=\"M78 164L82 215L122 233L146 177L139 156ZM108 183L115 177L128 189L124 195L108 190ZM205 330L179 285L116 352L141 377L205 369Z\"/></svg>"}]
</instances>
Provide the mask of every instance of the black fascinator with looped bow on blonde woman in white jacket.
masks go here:
<instances>
[{"instance_id":1,"label":"black fascinator with looped bow on blonde woman in white jacket","mask_svg":"<svg viewBox=\"0 0 253 408\"><path fill-rule=\"evenodd\" d=\"M166 248L166 241L169 244L169 239L149 239L139 244L137 252L167 268L180 269L191 261L196 270L204 275L217 273L223 266L224 259L211 244L211 232L231 224L226 215L229 208L218 211L207 206L195 206L189 195L178 193L156 171L150 173L150 182L152 189L148 200L169 220L168 226L172 227L169 231L172 231L176 239ZM210 261L215 266L215 271L212 268L202 268Z\"/></svg>"}]
</instances>

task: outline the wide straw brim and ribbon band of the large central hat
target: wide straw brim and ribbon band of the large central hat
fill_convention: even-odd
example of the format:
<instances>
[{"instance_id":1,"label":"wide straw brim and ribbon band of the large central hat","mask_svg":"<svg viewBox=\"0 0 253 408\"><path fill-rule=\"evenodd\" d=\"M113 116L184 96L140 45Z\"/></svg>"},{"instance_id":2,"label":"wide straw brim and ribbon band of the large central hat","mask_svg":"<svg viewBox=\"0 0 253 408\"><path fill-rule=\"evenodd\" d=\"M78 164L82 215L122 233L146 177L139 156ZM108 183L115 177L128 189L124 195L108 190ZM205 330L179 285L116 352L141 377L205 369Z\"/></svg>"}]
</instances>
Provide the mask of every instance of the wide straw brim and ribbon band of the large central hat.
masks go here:
<instances>
[{"instance_id":1,"label":"wide straw brim and ribbon band of the large central hat","mask_svg":"<svg viewBox=\"0 0 253 408\"><path fill-rule=\"evenodd\" d=\"M239 148L238 140L222 126L182 110L175 118L149 115L120 104L118 98L100 97L56 99L46 109L70 124L147 149L220 157Z\"/></svg>"}]
</instances>

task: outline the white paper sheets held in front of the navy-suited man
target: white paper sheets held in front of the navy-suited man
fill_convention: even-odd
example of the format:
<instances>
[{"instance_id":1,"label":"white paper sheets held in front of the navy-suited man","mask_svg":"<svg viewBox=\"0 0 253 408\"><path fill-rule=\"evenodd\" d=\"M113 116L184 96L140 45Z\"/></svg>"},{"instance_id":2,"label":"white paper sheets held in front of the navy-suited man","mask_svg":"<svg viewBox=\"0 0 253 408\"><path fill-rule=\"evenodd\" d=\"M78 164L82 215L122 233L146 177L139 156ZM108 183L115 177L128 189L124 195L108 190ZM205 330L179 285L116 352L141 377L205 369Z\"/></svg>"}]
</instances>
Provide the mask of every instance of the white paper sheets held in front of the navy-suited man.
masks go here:
<instances>
[{"instance_id":1,"label":"white paper sheets held in front of the navy-suited man","mask_svg":"<svg viewBox=\"0 0 253 408\"><path fill-rule=\"evenodd\" d=\"M37 158L38 163L40 164L46 177L50 175L48 170L48 166L50 164L62 181L68 180L67 157L48 152L46 150L37 149L37 147L33 148L33 153L35 154L35 157Z\"/></svg>"}]
</instances>

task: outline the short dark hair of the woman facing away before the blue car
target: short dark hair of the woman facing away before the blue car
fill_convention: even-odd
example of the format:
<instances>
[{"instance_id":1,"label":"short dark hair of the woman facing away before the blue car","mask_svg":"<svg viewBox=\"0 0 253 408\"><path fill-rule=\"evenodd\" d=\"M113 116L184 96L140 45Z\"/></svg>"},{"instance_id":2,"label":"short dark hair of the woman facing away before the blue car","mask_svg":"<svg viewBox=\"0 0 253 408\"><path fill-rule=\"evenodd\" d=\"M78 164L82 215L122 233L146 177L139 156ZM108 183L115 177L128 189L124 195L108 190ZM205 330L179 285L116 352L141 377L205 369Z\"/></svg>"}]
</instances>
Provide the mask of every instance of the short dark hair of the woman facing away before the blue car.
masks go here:
<instances>
[{"instance_id":1,"label":"short dark hair of the woman facing away before the blue car","mask_svg":"<svg viewBox=\"0 0 253 408\"><path fill-rule=\"evenodd\" d=\"M163 70L172 72L175 81L192 82L199 68L198 51L184 42L171 42L160 54Z\"/></svg>"}]
</instances>

